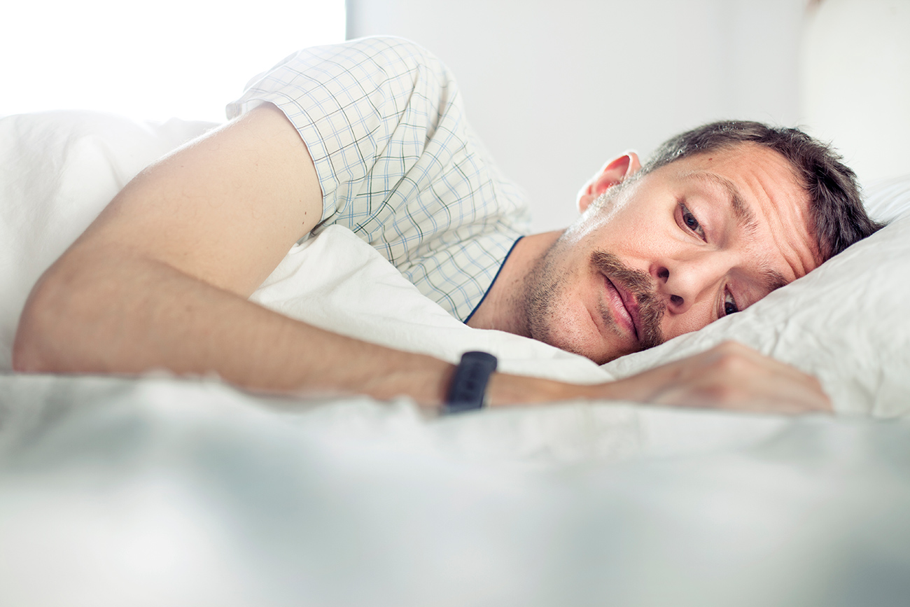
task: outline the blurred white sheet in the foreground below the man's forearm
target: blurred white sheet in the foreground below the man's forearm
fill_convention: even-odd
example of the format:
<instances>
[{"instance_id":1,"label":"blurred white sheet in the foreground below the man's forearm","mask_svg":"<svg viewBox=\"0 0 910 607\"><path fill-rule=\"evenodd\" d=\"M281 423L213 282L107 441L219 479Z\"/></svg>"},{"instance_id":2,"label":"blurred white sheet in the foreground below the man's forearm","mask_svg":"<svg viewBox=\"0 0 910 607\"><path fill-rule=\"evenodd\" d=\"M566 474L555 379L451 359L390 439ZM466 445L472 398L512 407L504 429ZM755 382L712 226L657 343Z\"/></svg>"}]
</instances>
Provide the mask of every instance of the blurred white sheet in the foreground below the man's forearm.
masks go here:
<instances>
[{"instance_id":1,"label":"blurred white sheet in the foreground below the man's forearm","mask_svg":"<svg viewBox=\"0 0 910 607\"><path fill-rule=\"evenodd\" d=\"M0 377L3 605L896 605L910 425Z\"/></svg>"}]
</instances>

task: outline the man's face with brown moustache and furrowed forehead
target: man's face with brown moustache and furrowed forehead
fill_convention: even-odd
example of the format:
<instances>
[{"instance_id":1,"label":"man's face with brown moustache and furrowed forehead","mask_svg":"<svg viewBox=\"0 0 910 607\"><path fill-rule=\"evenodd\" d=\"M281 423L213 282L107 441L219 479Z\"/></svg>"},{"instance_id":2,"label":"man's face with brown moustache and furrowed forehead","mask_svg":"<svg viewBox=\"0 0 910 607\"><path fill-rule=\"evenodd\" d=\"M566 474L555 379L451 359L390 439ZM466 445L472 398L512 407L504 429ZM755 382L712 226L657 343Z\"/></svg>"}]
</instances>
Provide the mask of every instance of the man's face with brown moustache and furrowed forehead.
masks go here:
<instances>
[{"instance_id":1,"label":"man's face with brown moustache and furrowed forehead","mask_svg":"<svg viewBox=\"0 0 910 607\"><path fill-rule=\"evenodd\" d=\"M531 337L599 363L751 306L820 259L789 162L741 145L614 186L526 283Z\"/></svg>"}]
</instances>

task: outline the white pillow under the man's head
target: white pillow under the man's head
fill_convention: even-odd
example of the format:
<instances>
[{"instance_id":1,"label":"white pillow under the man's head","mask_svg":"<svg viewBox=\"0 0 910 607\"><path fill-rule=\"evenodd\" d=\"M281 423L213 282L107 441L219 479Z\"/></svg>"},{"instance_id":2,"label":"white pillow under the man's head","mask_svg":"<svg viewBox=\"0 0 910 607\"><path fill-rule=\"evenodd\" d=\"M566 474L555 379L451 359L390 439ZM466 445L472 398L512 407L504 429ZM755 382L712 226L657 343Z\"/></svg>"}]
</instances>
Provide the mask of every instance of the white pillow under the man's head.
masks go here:
<instances>
[{"instance_id":1,"label":"white pillow under the man's head","mask_svg":"<svg viewBox=\"0 0 910 607\"><path fill-rule=\"evenodd\" d=\"M910 413L910 176L870 185L866 207L894 220L751 308L605 368L625 377L736 339L814 374L839 412Z\"/></svg>"}]
</instances>

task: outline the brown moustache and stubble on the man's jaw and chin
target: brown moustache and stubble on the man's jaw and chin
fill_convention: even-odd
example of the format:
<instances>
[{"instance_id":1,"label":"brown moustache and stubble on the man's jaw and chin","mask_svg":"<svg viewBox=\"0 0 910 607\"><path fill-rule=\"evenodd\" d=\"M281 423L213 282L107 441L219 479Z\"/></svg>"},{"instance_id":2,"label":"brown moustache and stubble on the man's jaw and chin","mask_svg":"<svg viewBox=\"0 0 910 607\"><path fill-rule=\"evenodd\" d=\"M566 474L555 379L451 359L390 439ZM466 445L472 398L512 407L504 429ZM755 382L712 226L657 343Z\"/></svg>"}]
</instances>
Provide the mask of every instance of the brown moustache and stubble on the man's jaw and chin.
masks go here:
<instances>
[{"instance_id":1,"label":"brown moustache and stubble on the man's jaw and chin","mask_svg":"<svg viewBox=\"0 0 910 607\"><path fill-rule=\"evenodd\" d=\"M571 244L560 237L544 252L531 273L525 277L524 314L531 338L592 358L578 345L583 343L585 338L580 334L580 328L569 328L568 336L556 333L556 329L560 327L560 319L565 316L565 311L570 305L565 293L569 282L568 276L571 273L567 271L569 268L559 267L561 252L570 247ZM651 276L642 270L629 268L617 256L600 249L591 253L588 262L605 274L614 286L621 286L638 302L639 340L632 351L649 349L661 344L663 342L661 319L666 303L655 291ZM602 301L598 313L604 325L616 334L617 339L622 339L622 329L617 326L605 302ZM573 337L575 339L572 339ZM618 352L612 354L610 359L594 361L603 364L632 351Z\"/></svg>"}]
</instances>

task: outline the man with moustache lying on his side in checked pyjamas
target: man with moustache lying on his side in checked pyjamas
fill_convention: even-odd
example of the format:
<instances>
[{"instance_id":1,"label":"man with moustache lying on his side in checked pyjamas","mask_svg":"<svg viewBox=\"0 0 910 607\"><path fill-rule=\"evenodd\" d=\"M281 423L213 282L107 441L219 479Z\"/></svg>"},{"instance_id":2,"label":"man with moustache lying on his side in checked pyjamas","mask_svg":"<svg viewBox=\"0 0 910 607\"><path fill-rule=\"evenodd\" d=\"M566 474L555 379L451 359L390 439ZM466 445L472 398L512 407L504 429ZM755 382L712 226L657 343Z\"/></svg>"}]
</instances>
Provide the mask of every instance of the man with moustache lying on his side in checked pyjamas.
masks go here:
<instances>
[{"instance_id":1,"label":"man with moustache lying on his side in checked pyjamas","mask_svg":"<svg viewBox=\"0 0 910 607\"><path fill-rule=\"evenodd\" d=\"M248 296L294 242L339 223L470 326L605 362L744 309L876 228L824 147L724 123L671 140L643 168L632 153L608 162L582 188L576 224L519 238L521 198L470 132L448 71L394 38L288 57L229 112L138 175L48 269L20 321L16 369L216 371L253 389L436 405L450 364ZM830 406L813 378L735 344L600 386L496 374L488 396Z\"/></svg>"}]
</instances>

